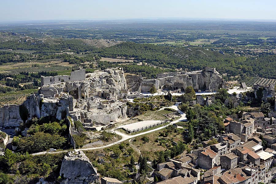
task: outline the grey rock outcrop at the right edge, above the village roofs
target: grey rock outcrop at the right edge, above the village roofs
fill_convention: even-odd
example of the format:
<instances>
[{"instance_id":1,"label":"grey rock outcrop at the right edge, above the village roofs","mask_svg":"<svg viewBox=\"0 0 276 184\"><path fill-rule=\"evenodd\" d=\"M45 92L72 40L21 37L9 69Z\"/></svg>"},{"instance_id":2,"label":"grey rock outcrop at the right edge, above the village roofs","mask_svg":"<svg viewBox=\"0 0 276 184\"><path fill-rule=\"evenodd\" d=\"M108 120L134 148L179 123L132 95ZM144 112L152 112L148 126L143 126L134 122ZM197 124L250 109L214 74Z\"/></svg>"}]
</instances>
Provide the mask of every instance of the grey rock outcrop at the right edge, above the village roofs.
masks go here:
<instances>
[{"instance_id":1,"label":"grey rock outcrop at the right edge, above the village roofs","mask_svg":"<svg viewBox=\"0 0 276 184\"><path fill-rule=\"evenodd\" d=\"M267 102L267 97L275 95L275 84L270 84L268 86L253 84L255 99L261 99Z\"/></svg>"}]
</instances>

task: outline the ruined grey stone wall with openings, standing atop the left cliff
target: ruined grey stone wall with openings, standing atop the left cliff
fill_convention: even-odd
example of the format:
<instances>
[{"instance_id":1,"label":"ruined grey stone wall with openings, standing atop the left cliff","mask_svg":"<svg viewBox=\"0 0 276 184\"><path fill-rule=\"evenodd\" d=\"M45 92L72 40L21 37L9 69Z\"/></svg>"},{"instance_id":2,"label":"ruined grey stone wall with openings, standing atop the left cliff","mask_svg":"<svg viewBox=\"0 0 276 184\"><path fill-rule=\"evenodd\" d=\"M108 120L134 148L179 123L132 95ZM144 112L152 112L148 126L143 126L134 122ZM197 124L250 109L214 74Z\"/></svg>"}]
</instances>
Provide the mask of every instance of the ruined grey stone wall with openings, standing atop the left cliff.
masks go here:
<instances>
[{"instance_id":1,"label":"ruined grey stone wall with openings, standing atop the left cliff","mask_svg":"<svg viewBox=\"0 0 276 184\"><path fill-rule=\"evenodd\" d=\"M79 69L71 72L71 75L41 76L41 86L56 84L61 82L81 81L86 79L85 69Z\"/></svg>"}]
</instances>

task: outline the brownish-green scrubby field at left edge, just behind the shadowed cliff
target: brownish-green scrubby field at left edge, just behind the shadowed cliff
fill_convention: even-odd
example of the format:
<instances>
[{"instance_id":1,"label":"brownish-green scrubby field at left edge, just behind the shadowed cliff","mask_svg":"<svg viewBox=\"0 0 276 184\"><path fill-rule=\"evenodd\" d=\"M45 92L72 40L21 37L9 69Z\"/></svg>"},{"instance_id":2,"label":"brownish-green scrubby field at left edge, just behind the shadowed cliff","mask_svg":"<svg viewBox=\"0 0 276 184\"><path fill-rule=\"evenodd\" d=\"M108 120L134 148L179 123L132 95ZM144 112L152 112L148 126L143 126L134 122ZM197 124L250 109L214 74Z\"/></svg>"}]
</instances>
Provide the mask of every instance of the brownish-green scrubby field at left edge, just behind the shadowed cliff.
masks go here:
<instances>
[{"instance_id":1,"label":"brownish-green scrubby field at left edge, just behind the shadowed cliff","mask_svg":"<svg viewBox=\"0 0 276 184\"><path fill-rule=\"evenodd\" d=\"M22 104L31 93L37 93L38 89L26 89L0 94L0 106L5 104Z\"/></svg>"}]
</instances>

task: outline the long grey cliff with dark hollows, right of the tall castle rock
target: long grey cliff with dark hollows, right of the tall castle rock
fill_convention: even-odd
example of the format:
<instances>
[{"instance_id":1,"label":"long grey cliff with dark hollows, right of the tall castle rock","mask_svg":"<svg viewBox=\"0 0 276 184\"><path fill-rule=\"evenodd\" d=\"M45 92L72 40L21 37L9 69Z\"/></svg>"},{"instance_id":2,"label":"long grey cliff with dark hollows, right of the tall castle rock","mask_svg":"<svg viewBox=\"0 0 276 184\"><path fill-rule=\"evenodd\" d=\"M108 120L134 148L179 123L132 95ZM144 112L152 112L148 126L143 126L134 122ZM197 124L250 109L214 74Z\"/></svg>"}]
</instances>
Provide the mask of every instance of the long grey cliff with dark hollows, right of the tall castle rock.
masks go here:
<instances>
[{"instance_id":1,"label":"long grey cliff with dark hollows, right of the tall castle rock","mask_svg":"<svg viewBox=\"0 0 276 184\"><path fill-rule=\"evenodd\" d=\"M130 80L131 79L131 80ZM187 86L193 86L195 91L214 92L219 88L226 88L225 81L222 76L213 68L206 68L202 71L187 72L174 76L167 76L158 79L138 80L132 76L129 77L128 89L130 91L137 90L138 92L149 92L152 86L155 86L159 91L162 89L175 90L181 89L183 92Z\"/></svg>"}]
</instances>

